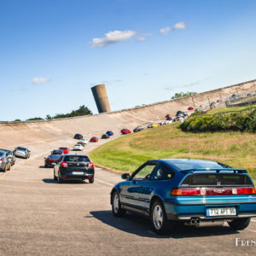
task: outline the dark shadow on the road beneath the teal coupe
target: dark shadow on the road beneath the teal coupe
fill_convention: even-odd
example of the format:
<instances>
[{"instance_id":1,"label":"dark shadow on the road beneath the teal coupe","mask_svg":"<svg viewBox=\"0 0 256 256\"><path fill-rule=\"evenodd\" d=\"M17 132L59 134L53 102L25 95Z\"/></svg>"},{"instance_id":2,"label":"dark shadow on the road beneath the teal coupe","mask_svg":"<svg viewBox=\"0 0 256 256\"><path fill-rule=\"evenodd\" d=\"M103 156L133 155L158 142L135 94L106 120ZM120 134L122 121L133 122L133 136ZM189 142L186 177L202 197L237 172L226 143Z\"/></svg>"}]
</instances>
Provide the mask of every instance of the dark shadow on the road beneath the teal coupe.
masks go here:
<instances>
[{"instance_id":1,"label":"dark shadow on the road beneath the teal coupe","mask_svg":"<svg viewBox=\"0 0 256 256\"><path fill-rule=\"evenodd\" d=\"M195 228L191 226L185 226L183 224L177 224L172 232L167 236L156 235L150 226L149 218L127 212L124 218L115 218L111 211L97 211L90 212L90 214L102 221L103 224L108 224L115 229L122 230L137 236L146 237L158 237L158 238L187 238L187 237L201 237L201 236L224 236L238 234L237 231L231 230L227 226L218 227L204 227ZM91 218L91 216L84 216L84 218Z\"/></svg>"}]
</instances>

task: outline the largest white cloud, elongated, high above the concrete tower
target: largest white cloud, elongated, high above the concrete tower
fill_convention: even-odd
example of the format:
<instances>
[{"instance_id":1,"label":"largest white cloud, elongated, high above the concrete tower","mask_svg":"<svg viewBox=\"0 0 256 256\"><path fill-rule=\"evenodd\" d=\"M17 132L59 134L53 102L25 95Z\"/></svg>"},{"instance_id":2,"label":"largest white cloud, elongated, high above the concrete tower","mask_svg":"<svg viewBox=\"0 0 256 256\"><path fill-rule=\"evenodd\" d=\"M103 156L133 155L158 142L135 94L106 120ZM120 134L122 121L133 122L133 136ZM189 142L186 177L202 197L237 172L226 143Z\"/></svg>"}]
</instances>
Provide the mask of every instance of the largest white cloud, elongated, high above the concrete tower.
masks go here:
<instances>
[{"instance_id":1,"label":"largest white cloud, elongated, high above the concrete tower","mask_svg":"<svg viewBox=\"0 0 256 256\"><path fill-rule=\"evenodd\" d=\"M107 34L105 34L105 38L93 38L90 42L90 47L104 47L108 46L109 44L116 44L130 39L136 34L137 32L131 30L115 30L113 32L108 32Z\"/></svg>"}]
</instances>

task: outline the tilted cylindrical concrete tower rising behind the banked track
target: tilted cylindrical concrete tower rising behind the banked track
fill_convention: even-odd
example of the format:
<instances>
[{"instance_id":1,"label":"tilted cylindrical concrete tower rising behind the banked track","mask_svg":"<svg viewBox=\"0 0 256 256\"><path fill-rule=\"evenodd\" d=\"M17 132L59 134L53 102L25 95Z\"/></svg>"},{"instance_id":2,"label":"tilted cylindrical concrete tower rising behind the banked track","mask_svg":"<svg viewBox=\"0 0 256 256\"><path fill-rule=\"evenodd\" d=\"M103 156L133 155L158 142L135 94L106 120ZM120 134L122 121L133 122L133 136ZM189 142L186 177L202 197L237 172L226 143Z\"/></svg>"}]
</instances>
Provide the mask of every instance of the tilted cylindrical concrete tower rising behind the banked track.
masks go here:
<instances>
[{"instance_id":1,"label":"tilted cylindrical concrete tower rising behind the banked track","mask_svg":"<svg viewBox=\"0 0 256 256\"><path fill-rule=\"evenodd\" d=\"M90 88L94 96L99 113L109 112L108 94L105 84L98 84Z\"/></svg>"}]
</instances>

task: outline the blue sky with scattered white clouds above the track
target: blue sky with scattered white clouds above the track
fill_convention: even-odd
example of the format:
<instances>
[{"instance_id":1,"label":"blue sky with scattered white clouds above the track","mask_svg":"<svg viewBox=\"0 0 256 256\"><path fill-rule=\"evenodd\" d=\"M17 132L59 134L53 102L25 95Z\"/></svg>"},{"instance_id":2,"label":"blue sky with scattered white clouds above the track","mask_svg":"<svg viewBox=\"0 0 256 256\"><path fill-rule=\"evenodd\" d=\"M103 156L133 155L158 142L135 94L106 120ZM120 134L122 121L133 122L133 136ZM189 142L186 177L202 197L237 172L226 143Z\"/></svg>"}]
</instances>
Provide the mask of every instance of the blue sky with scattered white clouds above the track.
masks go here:
<instances>
[{"instance_id":1,"label":"blue sky with scattered white clouds above the track","mask_svg":"<svg viewBox=\"0 0 256 256\"><path fill-rule=\"evenodd\" d=\"M256 79L255 28L254 0L0 0L0 120Z\"/></svg>"}]
</instances>

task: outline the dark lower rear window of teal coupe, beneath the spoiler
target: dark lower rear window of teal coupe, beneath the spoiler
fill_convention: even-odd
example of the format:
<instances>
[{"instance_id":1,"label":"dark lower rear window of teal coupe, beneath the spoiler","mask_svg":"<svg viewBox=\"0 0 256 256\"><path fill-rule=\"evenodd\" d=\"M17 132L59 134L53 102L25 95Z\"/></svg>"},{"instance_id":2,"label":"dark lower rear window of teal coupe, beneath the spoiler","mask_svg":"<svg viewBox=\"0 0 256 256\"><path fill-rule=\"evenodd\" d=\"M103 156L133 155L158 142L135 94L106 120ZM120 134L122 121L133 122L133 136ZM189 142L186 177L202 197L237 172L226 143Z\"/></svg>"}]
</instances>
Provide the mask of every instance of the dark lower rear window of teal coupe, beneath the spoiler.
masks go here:
<instances>
[{"instance_id":1,"label":"dark lower rear window of teal coupe, beneath the spoiler","mask_svg":"<svg viewBox=\"0 0 256 256\"><path fill-rule=\"evenodd\" d=\"M253 183L247 175L241 174L192 174L186 177L182 183L182 187L245 185L253 185Z\"/></svg>"}]
</instances>

